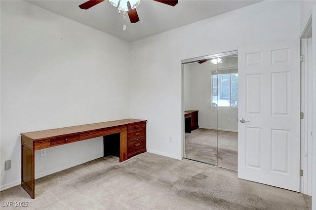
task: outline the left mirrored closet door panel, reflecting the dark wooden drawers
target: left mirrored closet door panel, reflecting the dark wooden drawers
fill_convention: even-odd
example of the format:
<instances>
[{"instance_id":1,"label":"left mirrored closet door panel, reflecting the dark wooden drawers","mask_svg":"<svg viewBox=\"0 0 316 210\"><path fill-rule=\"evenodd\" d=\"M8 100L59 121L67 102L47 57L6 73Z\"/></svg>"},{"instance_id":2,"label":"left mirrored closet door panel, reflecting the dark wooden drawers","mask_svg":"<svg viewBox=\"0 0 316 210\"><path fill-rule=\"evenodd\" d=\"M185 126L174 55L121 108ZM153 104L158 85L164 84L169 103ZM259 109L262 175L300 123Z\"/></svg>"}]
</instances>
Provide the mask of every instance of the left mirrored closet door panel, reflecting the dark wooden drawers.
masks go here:
<instances>
[{"instance_id":1,"label":"left mirrored closet door panel, reflecting the dark wooden drawers","mask_svg":"<svg viewBox=\"0 0 316 210\"><path fill-rule=\"evenodd\" d=\"M208 63L183 65L185 154L186 158L217 166L217 107L211 97L211 72ZM214 69L215 68L215 69ZM216 71L216 67L213 66ZM212 103L214 105L212 105ZM195 112L191 112L195 111ZM197 115L197 126L193 127ZM190 128L190 129L188 129Z\"/></svg>"}]
</instances>

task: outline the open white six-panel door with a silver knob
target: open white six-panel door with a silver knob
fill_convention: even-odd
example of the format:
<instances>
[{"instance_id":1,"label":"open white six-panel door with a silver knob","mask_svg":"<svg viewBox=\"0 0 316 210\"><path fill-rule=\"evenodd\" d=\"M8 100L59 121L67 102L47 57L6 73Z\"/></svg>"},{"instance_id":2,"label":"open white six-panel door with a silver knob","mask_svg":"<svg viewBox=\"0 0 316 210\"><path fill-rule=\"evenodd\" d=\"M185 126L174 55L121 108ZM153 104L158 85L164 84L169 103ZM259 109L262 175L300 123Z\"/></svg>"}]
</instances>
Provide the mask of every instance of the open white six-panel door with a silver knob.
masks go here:
<instances>
[{"instance_id":1,"label":"open white six-panel door with a silver knob","mask_svg":"<svg viewBox=\"0 0 316 210\"><path fill-rule=\"evenodd\" d=\"M299 40L238 49L238 177L300 191ZM242 120L241 120L242 121Z\"/></svg>"}]
</instances>

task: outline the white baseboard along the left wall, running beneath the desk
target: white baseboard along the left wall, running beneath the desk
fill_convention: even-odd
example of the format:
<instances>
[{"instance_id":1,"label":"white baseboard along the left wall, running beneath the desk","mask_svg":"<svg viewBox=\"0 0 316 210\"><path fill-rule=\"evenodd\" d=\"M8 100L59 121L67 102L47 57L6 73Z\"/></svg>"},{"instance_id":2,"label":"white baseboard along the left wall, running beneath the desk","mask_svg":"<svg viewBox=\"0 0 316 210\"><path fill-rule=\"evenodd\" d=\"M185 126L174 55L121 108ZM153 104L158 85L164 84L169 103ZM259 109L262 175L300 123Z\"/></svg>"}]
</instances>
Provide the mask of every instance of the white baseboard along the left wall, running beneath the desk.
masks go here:
<instances>
[{"instance_id":1,"label":"white baseboard along the left wall, running beneath the desk","mask_svg":"<svg viewBox=\"0 0 316 210\"><path fill-rule=\"evenodd\" d=\"M103 156L104 156L103 153L102 154L97 154L97 155L93 155L91 157L88 157L88 158L85 158L85 159L82 159L82 160L79 160L79 161L76 161L76 162L69 163L67 166L63 166L63 167L60 167L60 168L52 169L50 171L46 171L46 172L37 174L37 175L35 175L35 179L43 177L43 176L46 176L46 175L51 175L51 174L60 172L60 171L72 168L74 166L78 166L80 164L89 162L91 160L98 159L98 158L103 157ZM21 185L21 179L13 181L13 182L8 183L8 184L0 185L0 191L6 190L6 189L9 189L11 187L18 186L18 185Z\"/></svg>"}]
</instances>

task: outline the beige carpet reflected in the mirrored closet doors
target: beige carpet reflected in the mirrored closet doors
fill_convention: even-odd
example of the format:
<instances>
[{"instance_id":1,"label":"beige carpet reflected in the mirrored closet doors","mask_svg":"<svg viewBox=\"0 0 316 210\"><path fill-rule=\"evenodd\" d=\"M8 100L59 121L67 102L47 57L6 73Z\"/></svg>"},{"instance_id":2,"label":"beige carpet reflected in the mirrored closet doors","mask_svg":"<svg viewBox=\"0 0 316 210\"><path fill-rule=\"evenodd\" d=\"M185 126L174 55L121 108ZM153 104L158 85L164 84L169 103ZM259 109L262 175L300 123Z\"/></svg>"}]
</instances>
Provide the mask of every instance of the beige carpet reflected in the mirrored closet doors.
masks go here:
<instances>
[{"instance_id":1,"label":"beige carpet reflected in the mirrored closet doors","mask_svg":"<svg viewBox=\"0 0 316 210\"><path fill-rule=\"evenodd\" d=\"M185 133L186 157L237 170L238 133L199 128Z\"/></svg>"}]
</instances>

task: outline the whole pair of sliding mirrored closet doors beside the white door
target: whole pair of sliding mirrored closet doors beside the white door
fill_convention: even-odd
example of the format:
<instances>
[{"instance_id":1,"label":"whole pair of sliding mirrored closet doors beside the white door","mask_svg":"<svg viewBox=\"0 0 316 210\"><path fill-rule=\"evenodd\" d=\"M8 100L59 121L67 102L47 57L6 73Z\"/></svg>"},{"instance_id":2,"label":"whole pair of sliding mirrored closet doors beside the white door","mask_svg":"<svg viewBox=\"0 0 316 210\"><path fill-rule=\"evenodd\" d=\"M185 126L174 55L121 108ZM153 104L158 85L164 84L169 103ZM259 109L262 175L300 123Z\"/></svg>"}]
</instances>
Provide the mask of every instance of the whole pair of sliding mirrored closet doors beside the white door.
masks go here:
<instances>
[{"instance_id":1,"label":"whole pair of sliding mirrored closet doors beside the white door","mask_svg":"<svg viewBox=\"0 0 316 210\"><path fill-rule=\"evenodd\" d=\"M184 157L237 170L237 52L183 61Z\"/></svg>"}]
</instances>

